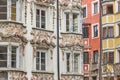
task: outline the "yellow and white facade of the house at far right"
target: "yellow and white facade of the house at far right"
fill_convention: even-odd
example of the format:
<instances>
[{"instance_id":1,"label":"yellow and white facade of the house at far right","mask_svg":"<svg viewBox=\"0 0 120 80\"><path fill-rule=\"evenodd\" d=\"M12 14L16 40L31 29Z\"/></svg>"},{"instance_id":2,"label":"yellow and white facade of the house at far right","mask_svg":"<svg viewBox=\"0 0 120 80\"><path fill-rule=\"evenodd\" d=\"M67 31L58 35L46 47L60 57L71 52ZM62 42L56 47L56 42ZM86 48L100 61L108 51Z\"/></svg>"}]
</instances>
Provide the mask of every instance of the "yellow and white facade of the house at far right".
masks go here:
<instances>
[{"instance_id":1,"label":"yellow and white facade of the house at far right","mask_svg":"<svg viewBox=\"0 0 120 80\"><path fill-rule=\"evenodd\" d=\"M104 1L103 1L104 2ZM113 13L112 14L105 14L105 15L102 15L102 34L105 34L105 31L103 31L103 28L106 28L106 33L108 34L111 34L109 33L109 30L108 28L110 26L113 27L113 34L114 36L113 37L107 37L107 38L103 38L102 39L102 50L103 50L103 54L106 53L106 52L113 52L114 53L114 63L117 63L120 59L118 55L119 53L119 48L120 48L120 29L119 29L119 26L118 24L120 24L120 11L118 11L118 1L117 0L111 0L111 1L108 1L108 2L104 2L102 3L102 6L104 5L113 5ZM112 8L111 8L112 9ZM103 12L103 11L102 11ZM107 36L108 36L107 34ZM102 55L102 58L104 58L104 56ZM108 69L110 70L111 72L111 77L114 77L114 79L116 79L117 77L115 76L115 72L114 72L114 67L113 67L113 64L110 64L107 63L107 64L104 64L102 66L102 69L105 70ZM102 71L103 72L103 71ZM107 71L106 72L103 72L105 74L102 74L102 79L105 80L105 77L107 77Z\"/></svg>"}]
</instances>

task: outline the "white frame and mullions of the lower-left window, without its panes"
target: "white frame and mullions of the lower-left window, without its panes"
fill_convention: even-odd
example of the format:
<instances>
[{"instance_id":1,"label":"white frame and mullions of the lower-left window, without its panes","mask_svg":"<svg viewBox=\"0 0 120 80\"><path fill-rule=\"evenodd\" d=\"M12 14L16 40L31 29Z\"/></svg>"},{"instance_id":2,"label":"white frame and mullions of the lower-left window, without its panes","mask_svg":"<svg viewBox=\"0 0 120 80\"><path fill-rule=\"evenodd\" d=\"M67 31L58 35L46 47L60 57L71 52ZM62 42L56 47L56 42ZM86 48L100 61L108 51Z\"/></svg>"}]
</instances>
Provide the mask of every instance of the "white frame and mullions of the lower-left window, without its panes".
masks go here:
<instances>
[{"instance_id":1,"label":"white frame and mullions of the lower-left window, without its panes","mask_svg":"<svg viewBox=\"0 0 120 80\"><path fill-rule=\"evenodd\" d=\"M15 69L20 69L21 65L20 65L20 47L19 47L19 43L14 43L14 42L0 42L0 46L7 46L7 67L6 68L13 68L11 66L11 51L10 51L10 47L12 46L16 46L16 67ZM21 61L22 62L22 61ZM3 68L3 67L0 67Z\"/></svg>"}]
</instances>

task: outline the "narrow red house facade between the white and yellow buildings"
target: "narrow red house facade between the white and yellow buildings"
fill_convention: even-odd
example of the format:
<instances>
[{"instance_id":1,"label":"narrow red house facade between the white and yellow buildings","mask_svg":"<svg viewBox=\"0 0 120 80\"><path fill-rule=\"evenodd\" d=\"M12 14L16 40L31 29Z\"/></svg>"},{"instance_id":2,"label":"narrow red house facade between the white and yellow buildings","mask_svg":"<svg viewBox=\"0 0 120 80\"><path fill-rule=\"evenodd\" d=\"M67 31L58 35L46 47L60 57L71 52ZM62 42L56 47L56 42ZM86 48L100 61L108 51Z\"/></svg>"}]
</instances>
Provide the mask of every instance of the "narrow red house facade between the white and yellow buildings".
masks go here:
<instances>
[{"instance_id":1,"label":"narrow red house facade between the white and yellow buildings","mask_svg":"<svg viewBox=\"0 0 120 80\"><path fill-rule=\"evenodd\" d=\"M84 63L84 65L88 65L89 69L88 72L86 72L83 67L84 76L89 78L92 78L91 76L96 76L96 80L97 80L98 76L94 75L94 72L92 71L94 69L94 65L97 65L97 70L98 70L98 64L99 64L99 53L100 53L99 0L82 0L82 8L83 8L83 35L85 35L84 52L88 52L89 55L88 57L89 62ZM86 11L86 15L85 15L85 11ZM84 28L86 27L88 28L88 33L85 33L86 30L84 30ZM87 34L88 37L86 37ZM98 59L98 63L94 63L95 60L94 53L96 53L96 51L98 51L98 58L96 58Z\"/></svg>"}]
</instances>

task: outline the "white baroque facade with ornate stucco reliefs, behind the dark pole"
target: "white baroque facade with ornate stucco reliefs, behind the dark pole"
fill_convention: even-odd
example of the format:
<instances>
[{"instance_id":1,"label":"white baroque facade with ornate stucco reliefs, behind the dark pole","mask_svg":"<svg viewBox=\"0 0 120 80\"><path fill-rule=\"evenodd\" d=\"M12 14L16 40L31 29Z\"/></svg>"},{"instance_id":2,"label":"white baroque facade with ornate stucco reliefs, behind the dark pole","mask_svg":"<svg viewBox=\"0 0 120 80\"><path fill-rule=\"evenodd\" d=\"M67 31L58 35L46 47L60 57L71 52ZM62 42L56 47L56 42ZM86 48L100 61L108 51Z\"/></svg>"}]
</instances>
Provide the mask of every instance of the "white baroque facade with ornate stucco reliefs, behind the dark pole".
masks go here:
<instances>
[{"instance_id":1,"label":"white baroque facade with ornate stucco reliefs, behind the dark pole","mask_svg":"<svg viewBox=\"0 0 120 80\"><path fill-rule=\"evenodd\" d=\"M81 0L59 1L60 78L83 80ZM55 0L0 0L0 80L57 80Z\"/></svg>"}]
</instances>

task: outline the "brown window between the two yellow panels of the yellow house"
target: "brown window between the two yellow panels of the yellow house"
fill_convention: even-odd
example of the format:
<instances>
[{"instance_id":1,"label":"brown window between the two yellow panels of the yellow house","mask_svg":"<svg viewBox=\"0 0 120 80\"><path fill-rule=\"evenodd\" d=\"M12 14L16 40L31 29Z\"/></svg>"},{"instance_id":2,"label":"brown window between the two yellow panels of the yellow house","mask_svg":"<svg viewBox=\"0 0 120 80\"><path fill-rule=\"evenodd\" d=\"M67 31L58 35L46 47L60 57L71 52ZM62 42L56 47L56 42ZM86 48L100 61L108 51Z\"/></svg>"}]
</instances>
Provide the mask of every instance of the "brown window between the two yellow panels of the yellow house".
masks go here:
<instances>
[{"instance_id":1,"label":"brown window between the two yellow panels of the yellow house","mask_svg":"<svg viewBox=\"0 0 120 80\"><path fill-rule=\"evenodd\" d=\"M113 26L108 26L103 28L103 38L113 38L114 29Z\"/></svg>"}]
</instances>

